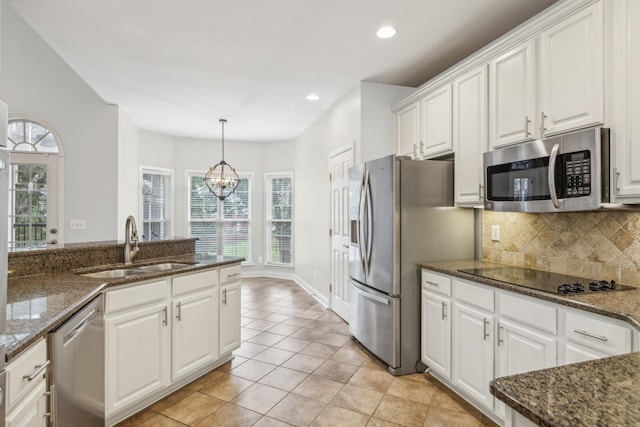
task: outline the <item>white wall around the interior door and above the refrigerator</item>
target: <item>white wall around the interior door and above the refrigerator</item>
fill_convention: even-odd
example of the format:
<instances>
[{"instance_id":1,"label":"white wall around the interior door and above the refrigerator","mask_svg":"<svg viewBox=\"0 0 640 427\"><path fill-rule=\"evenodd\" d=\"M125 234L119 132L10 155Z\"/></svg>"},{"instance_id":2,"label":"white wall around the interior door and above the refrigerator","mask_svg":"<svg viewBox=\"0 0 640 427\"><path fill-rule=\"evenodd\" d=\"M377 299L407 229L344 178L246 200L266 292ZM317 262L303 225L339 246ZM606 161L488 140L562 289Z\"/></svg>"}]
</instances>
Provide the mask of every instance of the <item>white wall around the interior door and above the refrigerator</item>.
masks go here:
<instances>
[{"instance_id":1,"label":"white wall around the interior door and above the refrigerator","mask_svg":"<svg viewBox=\"0 0 640 427\"><path fill-rule=\"evenodd\" d=\"M295 274L325 303L331 280L329 154L348 145L356 163L392 154L391 106L413 91L361 82L295 140Z\"/></svg>"}]
</instances>

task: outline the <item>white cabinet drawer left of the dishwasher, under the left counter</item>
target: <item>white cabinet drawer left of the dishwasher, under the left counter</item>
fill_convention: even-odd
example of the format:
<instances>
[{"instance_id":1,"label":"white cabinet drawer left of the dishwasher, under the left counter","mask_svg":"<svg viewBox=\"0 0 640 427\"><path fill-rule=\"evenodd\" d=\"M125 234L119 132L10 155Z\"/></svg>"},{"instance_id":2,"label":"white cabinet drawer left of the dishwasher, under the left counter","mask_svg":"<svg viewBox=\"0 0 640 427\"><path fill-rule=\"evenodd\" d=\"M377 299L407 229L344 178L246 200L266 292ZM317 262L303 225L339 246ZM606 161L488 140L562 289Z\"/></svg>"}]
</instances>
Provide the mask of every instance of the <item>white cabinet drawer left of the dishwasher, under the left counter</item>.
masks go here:
<instances>
[{"instance_id":1,"label":"white cabinet drawer left of the dishwasher, under the left counter","mask_svg":"<svg viewBox=\"0 0 640 427\"><path fill-rule=\"evenodd\" d=\"M47 370L42 367L46 363L47 344L41 339L7 364L7 412L44 379ZM37 371L40 373L29 381Z\"/></svg>"}]
</instances>

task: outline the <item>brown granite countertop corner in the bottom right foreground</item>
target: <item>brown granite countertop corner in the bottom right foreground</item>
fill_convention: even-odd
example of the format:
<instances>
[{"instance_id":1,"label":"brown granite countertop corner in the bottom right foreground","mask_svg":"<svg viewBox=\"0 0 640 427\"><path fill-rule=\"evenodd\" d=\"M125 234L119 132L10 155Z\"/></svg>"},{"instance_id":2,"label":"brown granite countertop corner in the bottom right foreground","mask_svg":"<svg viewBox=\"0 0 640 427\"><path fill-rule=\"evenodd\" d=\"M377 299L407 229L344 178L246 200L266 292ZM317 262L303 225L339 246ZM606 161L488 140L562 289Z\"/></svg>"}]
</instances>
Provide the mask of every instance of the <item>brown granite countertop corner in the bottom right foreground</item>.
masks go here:
<instances>
[{"instance_id":1,"label":"brown granite countertop corner in the bottom right foreground","mask_svg":"<svg viewBox=\"0 0 640 427\"><path fill-rule=\"evenodd\" d=\"M497 378L491 393L541 426L637 426L640 353Z\"/></svg>"}]
</instances>

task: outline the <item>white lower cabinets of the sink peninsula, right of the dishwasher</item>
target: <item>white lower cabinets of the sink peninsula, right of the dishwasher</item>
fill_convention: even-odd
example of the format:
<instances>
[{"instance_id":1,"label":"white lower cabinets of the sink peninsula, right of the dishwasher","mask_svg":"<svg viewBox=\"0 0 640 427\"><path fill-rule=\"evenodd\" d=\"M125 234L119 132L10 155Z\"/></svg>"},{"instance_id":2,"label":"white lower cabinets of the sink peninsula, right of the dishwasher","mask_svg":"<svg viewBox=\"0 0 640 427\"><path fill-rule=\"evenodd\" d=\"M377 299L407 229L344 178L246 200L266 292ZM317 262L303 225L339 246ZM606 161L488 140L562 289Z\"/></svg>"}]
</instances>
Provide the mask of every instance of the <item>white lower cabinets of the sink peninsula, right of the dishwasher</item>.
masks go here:
<instances>
[{"instance_id":1,"label":"white lower cabinets of the sink peninsula, right of the dishwasher","mask_svg":"<svg viewBox=\"0 0 640 427\"><path fill-rule=\"evenodd\" d=\"M231 279L229 271L222 274L229 269ZM186 384L240 346L240 266L222 270L106 292L107 423Z\"/></svg>"}]
</instances>

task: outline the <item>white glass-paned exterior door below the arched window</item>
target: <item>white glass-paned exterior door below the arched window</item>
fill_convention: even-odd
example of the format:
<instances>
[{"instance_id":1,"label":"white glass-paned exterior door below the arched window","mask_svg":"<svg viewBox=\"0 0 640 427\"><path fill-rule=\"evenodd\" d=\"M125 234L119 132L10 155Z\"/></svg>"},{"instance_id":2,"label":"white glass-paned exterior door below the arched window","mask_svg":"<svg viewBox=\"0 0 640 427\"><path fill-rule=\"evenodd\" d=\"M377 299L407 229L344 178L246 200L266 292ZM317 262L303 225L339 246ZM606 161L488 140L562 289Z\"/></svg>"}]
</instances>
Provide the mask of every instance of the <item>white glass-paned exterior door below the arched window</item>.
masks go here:
<instances>
[{"instance_id":1,"label":"white glass-paned exterior door below the arched window","mask_svg":"<svg viewBox=\"0 0 640 427\"><path fill-rule=\"evenodd\" d=\"M9 247L56 247L58 234L58 156L11 153Z\"/></svg>"}]
</instances>

